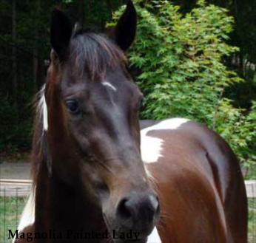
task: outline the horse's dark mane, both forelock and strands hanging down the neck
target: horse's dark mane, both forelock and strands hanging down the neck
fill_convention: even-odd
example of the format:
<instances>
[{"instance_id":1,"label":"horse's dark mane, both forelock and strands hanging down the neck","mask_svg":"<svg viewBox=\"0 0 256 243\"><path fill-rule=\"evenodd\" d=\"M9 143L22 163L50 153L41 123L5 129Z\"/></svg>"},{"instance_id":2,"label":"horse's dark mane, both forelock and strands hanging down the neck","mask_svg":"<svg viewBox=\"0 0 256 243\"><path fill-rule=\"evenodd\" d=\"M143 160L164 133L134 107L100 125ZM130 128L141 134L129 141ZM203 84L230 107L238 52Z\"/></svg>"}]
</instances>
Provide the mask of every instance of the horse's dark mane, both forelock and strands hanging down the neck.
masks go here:
<instances>
[{"instance_id":1,"label":"horse's dark mane, both forelock and strands hanging down the neck","mask_svg":"<svg viewBox=\"0 0 256 243\"><path fill-rule=\"evenodd\" d=\"M120 64L127 64L124 52L104 35L89 31L75 31L70 40L69 55L65 62L70 62L75 69L75 75L87 74L92 80L102 79L108 70ZM36 186L38 168L41 163L47 163L50 175L50 151L47 142L47 131L44 129L46 114L45 85L35 99L36 116L34 120L32 169L33 185Z\"/></svg>"}]
</instances>

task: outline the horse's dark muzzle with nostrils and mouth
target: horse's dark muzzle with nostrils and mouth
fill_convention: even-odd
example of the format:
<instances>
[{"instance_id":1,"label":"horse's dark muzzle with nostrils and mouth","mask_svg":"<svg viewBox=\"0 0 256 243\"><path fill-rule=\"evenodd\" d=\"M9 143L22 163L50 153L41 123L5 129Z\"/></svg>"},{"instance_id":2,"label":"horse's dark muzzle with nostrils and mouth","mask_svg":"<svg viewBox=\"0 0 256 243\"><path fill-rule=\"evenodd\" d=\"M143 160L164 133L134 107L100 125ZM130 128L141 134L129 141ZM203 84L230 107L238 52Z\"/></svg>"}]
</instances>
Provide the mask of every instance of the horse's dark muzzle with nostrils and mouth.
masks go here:
<instances>
[{"instance_id":1,"label":"horse's dark muzzle with nostrils and mouth","mask_svg":"<svg viewBox=\"0 0 256 243\"><path fill-rule=\"evenodd\" d=\"M115 236L125 236L129 241L138 236L137 242L143 242L149 236L160 216L158 196L151 189L149 191L131 191L119 200L114 218L107 220L107 225L115 230ZM132 234L132 239L127 238L128 233Z\"/></svg>"}]
</instances>

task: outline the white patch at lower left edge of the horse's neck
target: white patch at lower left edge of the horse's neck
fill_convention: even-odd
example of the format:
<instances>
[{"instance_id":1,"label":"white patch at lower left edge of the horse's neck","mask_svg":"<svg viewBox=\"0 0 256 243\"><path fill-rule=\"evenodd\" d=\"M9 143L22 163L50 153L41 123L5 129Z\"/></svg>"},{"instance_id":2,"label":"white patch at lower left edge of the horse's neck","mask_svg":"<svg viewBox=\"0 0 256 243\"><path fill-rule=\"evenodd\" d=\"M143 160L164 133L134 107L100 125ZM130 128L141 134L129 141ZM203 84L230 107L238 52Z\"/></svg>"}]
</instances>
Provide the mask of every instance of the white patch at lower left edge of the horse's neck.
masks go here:
<instances>
[{"instance_id":1,"label":"white patch at lower left edge of the horse's neck","mask_svg":"<svg viewBox=\"0 0 256 243\"><path fill-rule=\"evenodd\" d=\"M27 205L21 215L21 220L18 224L18 230L22 231L25 227L33 225L35 222L35 194L34 189L30 192L30 197L27 200ZM15 240L15 239L13 239Z\"/></svg>"}]
</instances>

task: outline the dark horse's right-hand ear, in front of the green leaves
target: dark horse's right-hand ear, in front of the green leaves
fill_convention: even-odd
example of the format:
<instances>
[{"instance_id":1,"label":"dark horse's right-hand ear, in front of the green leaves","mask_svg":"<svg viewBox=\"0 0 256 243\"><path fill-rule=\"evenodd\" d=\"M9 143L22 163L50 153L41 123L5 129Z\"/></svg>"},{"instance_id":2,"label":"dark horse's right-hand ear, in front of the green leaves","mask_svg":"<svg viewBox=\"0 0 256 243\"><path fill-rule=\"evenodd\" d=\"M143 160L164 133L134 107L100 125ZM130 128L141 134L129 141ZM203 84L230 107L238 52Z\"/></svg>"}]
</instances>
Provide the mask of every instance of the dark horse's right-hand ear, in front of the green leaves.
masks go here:
<instances>
[{"instance_id":1,"label":"dark horse's right-hand ear, in front of the green leaves","mask_svg":"<svg viewBox=\"0 0 256 243\"><path fill-rule=\"evenodd\" d=\"M115 42L126 51L135 39L137 28L137 13L131 0L127 1L127 8L115 27Z\"/></svg>"}]
</instances>

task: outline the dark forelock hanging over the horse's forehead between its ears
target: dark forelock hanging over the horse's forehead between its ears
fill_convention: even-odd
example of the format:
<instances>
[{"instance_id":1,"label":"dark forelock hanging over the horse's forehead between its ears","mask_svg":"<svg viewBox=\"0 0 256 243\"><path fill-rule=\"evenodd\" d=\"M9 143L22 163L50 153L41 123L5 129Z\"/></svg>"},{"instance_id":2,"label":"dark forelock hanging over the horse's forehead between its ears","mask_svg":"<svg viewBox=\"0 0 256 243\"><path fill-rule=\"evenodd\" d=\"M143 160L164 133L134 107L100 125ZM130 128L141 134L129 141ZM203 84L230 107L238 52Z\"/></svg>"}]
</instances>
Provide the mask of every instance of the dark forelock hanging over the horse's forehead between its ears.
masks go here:
<instances>
[{"instance_id":1,"label":"dark forelock hanging over the horse's forehead between its ears","mask_svg":"<svg viewBox=\"0 0 256 243\"><path fill-rule=\"evenodd\" d=\"M86 72L91 80L104 78L108 70L127 64L119 47L104 35L95 33L74 35L70 43L69 61L75 66L76 75Z\"/></svg>"}]
</instances>

